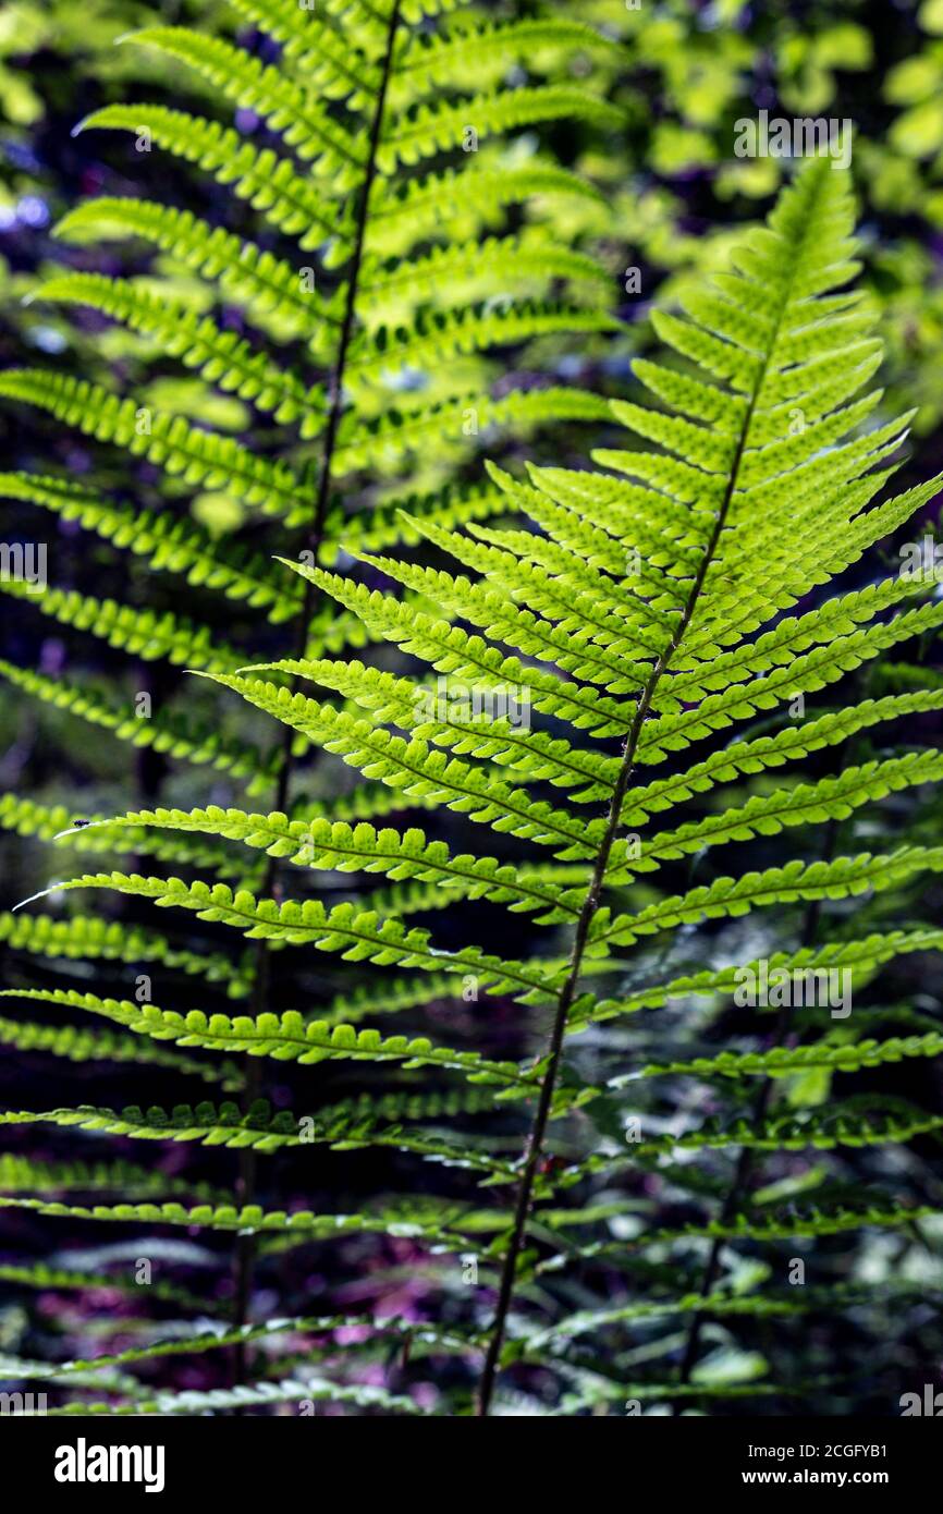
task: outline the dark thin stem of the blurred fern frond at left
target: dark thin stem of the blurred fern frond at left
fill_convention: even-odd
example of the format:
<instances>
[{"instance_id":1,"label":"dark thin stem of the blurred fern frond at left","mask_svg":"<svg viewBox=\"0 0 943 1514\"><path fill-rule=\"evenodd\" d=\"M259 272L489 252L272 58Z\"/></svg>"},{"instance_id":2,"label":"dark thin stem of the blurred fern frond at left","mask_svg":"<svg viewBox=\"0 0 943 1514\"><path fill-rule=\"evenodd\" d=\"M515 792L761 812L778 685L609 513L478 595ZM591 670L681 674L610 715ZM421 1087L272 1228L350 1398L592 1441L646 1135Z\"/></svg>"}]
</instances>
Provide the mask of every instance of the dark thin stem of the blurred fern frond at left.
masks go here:
<instances>
[{"instance_id":1,"label":"dark thin stem of the blurred fern frond at left","mask_svg":"<svg viewBox=\"0 0 943 1514\"><path fill-rule=\"evenodd\" d=\"M380 76L380 88L377 91L377 101L369 129L369 147L368 147L366 165L357 206L354 247L348 265L347 298L344 301L344 319L341 324L341 335L338 339L338 351L328 378L330 409L327 416L327 427L324 431L324 448L321 453L318 492L315 495L312 521L306 537L306 548L307 551L312 553L312 560L315 563L318 562L318 557L321 554L321 545L324 539L324 521L327 518L327 506L331 489L331 465L338 444L338 427L341 425L341 416L344 413L344 375L347 371L347 356L357 315L357 289L360 280L360 266L363 262L366 220L369 212L369 198L374 180L377 177L377 153L380 148L380 136L383 132L383 114L386 109L386 95L392 71L394 47L397 41L397 32L400 29L401 3L403 0L394 0L394 6L389 15L386 50L383 55L383 70ZM295 657L303 657L304 653L307 651L307 640L310 634L310 622L315 610L316 593L318 590L315 584L307 581L304 587L304 600L301 603L301 609L297 618L297 636L295 636L295 651L294 651ZM295 684L298 686L298 680L295 680ZM286 725L282 739L279 777L275 781L275 793L272 802L274 810L286 808L289 784L294 771L292 737L294 731L291 727ZM262 892L265 895L274 893L277 871L279 871L279 861L275 857L271 857L265 869L265 880L262 884ZM250 1013L253 1014L253 1017L263 1014L268 1007L269 978L271 972L269 972L268 943L265 940L260 940L256 952L253 990L250 999ZM251 1105L251 1102L259 1098L260 1087L262 1087L260 1061L257 1058L250 1057L245 1070L245 1084L242 1090L245 1105ZM257 1154L250 1148L244 1151L239 1158L241 1204L245 1205L253 1202L256 1190L256 1178L257 1178ZM256 1258L254 1237L251 1235L241 1237L236 1246L235 1267L233 1267L235 1325L245 1325L248 1319L254 1258ZM233 1382L242 1381L242 1378L245 1376L245 1367L247 1367L245 1344L238 1343L233 1349Z\"/></svg>"}]
</instances>

